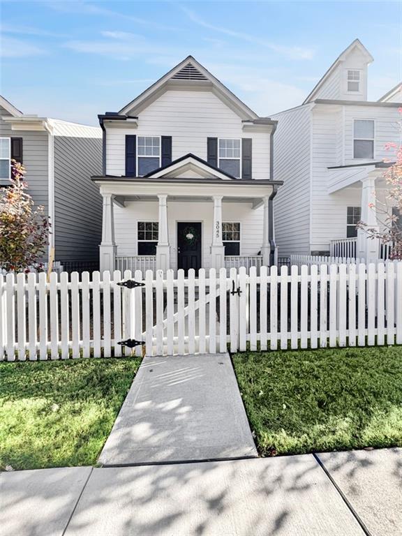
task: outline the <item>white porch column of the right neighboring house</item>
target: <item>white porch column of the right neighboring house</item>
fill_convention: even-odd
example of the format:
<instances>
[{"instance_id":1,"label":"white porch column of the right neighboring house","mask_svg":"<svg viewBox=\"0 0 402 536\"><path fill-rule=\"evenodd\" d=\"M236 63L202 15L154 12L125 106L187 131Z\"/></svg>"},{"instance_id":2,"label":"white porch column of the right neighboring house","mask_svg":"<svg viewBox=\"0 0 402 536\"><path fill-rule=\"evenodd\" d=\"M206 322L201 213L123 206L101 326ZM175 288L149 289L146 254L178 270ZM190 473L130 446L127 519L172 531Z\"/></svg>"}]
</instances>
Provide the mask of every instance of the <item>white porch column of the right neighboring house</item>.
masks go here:
<instances>
[{"instance_id":1,"label":"white porch column of the right neighboring house","mask_svg":"<svg viewBox=\"0 0 402 536\"><path fill-rule=\"evenodd\" d=\"M377 215L375 213L375 177L368 175L362 180L362 222L369 228L379 230ZM371 239L362 229L357 229L357 258L369 262L378 260L380 254L380 241Z\"/></svg>"}]
</instances>

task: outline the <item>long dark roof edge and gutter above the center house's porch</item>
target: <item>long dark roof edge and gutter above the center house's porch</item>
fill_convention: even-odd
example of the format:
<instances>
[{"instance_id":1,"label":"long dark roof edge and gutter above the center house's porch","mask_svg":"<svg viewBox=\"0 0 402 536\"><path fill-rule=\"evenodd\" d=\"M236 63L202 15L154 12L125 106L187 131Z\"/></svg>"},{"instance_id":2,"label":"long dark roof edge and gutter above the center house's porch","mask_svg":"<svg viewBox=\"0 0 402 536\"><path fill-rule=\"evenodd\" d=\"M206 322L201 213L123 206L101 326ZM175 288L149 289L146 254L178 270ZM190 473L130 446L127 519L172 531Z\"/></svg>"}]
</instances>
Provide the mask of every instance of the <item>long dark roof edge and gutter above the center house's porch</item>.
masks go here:
<instances>
[{"instance_id":1,"label":"long dark roof edge and gutter above the center house's porch","mask_svg":"<svg viewBox=\"0 0 402 536\"><path fill-rule=\"evenodd\" d=\"M176 178L176 179L170 179L166 178L163 179L162 177L159 179L150 179L147 177L126 177L124 175L114 176L114 175L93 175L91 177L91 181L93 182L137 182L137 183L144 183L144 184L154 184L154 183L161 183L161 184L169 184L169 183L182 183L182 184L230 184L230 186L236 187L237 184L239 185L245 185L251 186L254 184L255 186L282 186L283 181L269 181L266 179L234 179L233 181L223 181L219 179L195 179L195 178Z\"/></svg>"}]
</instances>

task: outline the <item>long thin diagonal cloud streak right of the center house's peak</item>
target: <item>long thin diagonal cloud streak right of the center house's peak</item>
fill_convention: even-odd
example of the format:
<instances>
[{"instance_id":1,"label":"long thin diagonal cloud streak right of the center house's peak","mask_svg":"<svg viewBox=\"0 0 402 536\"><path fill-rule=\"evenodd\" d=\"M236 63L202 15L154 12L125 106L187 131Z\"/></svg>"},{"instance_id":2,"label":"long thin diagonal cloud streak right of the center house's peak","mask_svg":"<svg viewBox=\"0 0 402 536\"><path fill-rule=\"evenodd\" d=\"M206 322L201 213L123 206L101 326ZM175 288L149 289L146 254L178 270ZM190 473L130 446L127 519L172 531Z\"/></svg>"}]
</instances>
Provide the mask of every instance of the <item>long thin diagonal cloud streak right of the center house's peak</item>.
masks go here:
<instances>
[{"instance_id":1,"label":"long thin diagonal cloud streak right of the center house's peak","mask_svg":"<svg viewBox=\"0 0 402 536\"><path fill-rule=\"evenodd\" d=\"M313 59L314 57L314 50L312 50L311 48L288 47L285 45L278 45L276 43L270 43L267 40L260 39L251 34L245 34L244 32L241 32L241 31L234 31L229 28L225 28L223 26L216 26L214 24L210 24L209 22L199 17L193 10L188 9L184 6L180 6L180 8L184 13L186 13L186 15L188 16L190 20L195 22L195 24L199 24L200 26L204 28L217 31L220 34L225 34L230 37L248 41L248 43L255 43L255 45L260 45L262 47L269 48L270 50L273 50L274 52L283 54L283 56L288 57L289 59Z\"/></svg>"}]
</instances>

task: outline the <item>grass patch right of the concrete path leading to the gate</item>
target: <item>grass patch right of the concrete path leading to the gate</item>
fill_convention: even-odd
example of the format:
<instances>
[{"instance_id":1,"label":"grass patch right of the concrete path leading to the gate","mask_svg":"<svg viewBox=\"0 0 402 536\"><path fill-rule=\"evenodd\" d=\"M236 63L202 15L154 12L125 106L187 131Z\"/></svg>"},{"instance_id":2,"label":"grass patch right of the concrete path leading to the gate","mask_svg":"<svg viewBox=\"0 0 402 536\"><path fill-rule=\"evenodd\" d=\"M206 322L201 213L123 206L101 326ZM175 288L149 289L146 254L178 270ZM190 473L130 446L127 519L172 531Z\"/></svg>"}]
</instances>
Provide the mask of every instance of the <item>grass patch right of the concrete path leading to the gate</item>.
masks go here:
<instances>
[{"instance_id":1,"label":"grass patch right of the concrete path leading to the gate","mask_svg":"<svg viewBox=\"0 0 402 536\"><path fill-rule=\"evenodd\" d=\"M402 446L402 348L233 356L262 456Z\"/></svg>"}]
</instances>

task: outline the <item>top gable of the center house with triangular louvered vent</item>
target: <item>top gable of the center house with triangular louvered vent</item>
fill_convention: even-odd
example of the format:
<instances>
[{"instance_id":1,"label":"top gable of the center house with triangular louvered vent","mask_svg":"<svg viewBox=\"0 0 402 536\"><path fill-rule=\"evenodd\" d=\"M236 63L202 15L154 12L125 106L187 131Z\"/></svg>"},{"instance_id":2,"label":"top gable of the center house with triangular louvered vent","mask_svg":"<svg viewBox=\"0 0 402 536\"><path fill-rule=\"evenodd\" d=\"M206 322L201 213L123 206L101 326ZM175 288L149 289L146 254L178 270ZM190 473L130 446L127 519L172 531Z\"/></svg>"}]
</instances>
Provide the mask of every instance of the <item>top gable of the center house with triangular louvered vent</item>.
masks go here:
<instances>
[{"instance_id":1,"label":"top gable of the center house with triangular louvered vent","mask_svg":"<svg viewBox=\"0 0 402 536\"><path fill-rule=\"evenodd\" d=\"M204 68L193 56L186 57L177 66L173 67L168 73L163 75L148 89L137 96L133 101L121 108L119 115L136 114L146 105L153 102L163 94L169 87L180 87L183 85L191 85L194 87L204 86L211 87L211 90L221 98L229 107L232 108L241 119L257 119L258 115L251 110L244 102L235 96L222 82L214 75L209 73L209 70Z\"/></svg>"}]
</instances>

